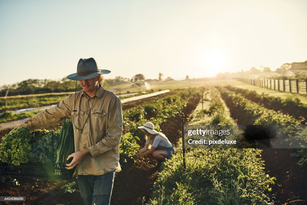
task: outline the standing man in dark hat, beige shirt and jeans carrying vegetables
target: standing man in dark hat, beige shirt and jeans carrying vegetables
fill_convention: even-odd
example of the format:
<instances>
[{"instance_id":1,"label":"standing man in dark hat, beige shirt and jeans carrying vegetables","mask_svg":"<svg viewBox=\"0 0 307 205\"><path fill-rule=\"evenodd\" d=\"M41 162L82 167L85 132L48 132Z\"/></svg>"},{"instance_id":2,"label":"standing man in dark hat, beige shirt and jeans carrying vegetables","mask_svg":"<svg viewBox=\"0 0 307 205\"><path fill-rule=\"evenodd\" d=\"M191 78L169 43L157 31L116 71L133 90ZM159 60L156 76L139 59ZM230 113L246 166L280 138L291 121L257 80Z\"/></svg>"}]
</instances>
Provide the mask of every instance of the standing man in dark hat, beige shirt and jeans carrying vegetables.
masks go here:
<instances>
[{"instance_id":1,"label":"standing man in dark hat, beige shirt and jeans carrying vegetables","mask_svg":"<svg viewBox=\"0 0 307 205\"><path fill-rule=\"evenodd\" d=\"M102 87L101 74L106 73L110 71L99 70L94 58L81 58L77 73L67 78L79 81L83 90L19 125L34 130L56 124L63 117L72 118L76 152L68 156L73 159L67 169L76 166L81 197L86 205L109 204L115 171L121 171L122 105L115 94Z\"/></svg>"}]
</instances>

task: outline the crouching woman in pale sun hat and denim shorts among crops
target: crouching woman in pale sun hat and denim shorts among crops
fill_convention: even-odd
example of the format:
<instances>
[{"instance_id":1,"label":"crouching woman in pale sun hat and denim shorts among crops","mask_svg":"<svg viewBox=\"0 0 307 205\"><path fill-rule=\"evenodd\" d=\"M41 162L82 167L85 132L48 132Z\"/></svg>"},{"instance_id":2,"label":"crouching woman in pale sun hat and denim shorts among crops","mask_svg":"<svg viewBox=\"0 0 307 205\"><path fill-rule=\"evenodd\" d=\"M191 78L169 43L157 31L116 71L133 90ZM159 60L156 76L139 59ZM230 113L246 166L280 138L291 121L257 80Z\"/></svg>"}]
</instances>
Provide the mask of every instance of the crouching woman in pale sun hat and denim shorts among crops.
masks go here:
<instances>
[{"instance_id":1,"label":"crouching woman in pale sun hat and denim shorts among crops","mask_svg":"<svg viewBox=\"0 0 307 205\"><path fill-rule=\"evenodd\" d=\"M152 153L152 156L157 160L165 161L175 154L174 145L162 132L157 132L151 122L146 122L144 126L138 128L145 132L146 144L136 153L136 158Z\"/></svg>"}]
</instances>

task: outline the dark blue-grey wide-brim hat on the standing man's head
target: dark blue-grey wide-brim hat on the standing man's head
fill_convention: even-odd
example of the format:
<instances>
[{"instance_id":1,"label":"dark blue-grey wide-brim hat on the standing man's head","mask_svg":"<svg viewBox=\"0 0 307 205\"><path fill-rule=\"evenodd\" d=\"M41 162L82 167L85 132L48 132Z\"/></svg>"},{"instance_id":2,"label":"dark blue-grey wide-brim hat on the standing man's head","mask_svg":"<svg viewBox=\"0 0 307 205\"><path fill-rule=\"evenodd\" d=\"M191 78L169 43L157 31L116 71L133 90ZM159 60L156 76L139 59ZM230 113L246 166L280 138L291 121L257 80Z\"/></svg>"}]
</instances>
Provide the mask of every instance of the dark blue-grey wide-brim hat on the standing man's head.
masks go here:
<instances>
[{"instance_id":1,"label":"dark blue-grey wide-brim hat on the standing man's head","mask_svg":"<svg viewBox=\"0 0 307 205\"><path fill-rule=\"evenodd\" d=\"M111 73L111 71L98 69L94 58L80 58L77 73L73 73L67 78L73 81L83 81L107 73Z\"/></svg>"}]
</instances>

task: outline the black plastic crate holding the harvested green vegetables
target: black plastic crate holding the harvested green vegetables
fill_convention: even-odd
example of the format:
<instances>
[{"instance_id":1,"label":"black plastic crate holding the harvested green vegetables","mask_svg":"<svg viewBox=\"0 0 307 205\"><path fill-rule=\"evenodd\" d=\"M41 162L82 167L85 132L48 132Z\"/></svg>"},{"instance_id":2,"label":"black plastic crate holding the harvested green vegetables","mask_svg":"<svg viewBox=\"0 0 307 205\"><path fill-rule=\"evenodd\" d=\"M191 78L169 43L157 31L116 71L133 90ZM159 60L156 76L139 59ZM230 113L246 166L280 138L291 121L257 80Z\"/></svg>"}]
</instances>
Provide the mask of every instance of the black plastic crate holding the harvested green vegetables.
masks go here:
<instances>
[{"instance_id":1,"label":"black plastic crate holding the harvested green vegetables","mask_svg":"<svg viewBox=\"0 0 307 205\"><path fill-rule=\"evenodd\" d=\"M75 168L68 170L65 167L65 163L26 163L11 165L0 162L0 175L70 180L72 179Z\"/></svg>"}]
</instances>

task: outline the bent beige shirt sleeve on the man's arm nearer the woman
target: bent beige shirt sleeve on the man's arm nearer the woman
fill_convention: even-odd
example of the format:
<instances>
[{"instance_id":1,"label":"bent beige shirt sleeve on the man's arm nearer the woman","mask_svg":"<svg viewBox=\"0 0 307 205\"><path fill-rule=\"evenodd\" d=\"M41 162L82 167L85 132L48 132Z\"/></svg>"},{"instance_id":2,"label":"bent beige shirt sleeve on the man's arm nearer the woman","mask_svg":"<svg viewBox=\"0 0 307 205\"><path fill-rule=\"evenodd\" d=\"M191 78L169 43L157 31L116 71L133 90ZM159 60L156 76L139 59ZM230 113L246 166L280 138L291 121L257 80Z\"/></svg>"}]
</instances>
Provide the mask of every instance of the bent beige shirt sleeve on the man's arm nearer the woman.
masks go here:
<instances>
[{"instance_id":1,"label":"bent beige shirt sleeve on the man's arm nearer the woman","mask_svg":"<svg viewBox=\"0 0 307 205\"><path fill-rule=\"evenodd\" d=\"M105 125L102 125L105 126ZM117 97L108 110L107 118L107 135L98 143L88 148L92 157L97 157L100 154L114 149L119 145L122 136L122 104Z\"/></svg>"}]
</instances>

